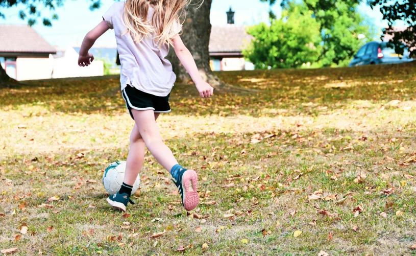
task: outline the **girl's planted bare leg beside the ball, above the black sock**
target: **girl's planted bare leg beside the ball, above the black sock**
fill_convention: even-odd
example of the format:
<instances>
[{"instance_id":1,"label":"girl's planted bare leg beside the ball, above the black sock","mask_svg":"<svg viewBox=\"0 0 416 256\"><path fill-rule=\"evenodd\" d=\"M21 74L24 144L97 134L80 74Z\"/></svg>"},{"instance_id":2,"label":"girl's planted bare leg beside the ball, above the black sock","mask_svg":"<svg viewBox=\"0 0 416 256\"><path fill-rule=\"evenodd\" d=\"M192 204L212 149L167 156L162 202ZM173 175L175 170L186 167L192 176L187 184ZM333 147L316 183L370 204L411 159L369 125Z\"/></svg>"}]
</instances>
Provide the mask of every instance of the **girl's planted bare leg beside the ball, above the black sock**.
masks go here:
<instances>
[{"instance_id":1,"label":"girl's planted bare leg beside the ball, above the black sock","mask_svg":"<svg viewBox=\"0 0 416 256\"><path fill-rule=\"evenodd\" d=\"M160 113L154 114L154 120L156 121ZM137 175L143 166L145 154L145 144L143 138L140 135L137 125L134 124L132 133L130 134L130 151L127 156L126 172L124 175L124 183L133 185L136 181Z\"/></svg>"}]
</instances>

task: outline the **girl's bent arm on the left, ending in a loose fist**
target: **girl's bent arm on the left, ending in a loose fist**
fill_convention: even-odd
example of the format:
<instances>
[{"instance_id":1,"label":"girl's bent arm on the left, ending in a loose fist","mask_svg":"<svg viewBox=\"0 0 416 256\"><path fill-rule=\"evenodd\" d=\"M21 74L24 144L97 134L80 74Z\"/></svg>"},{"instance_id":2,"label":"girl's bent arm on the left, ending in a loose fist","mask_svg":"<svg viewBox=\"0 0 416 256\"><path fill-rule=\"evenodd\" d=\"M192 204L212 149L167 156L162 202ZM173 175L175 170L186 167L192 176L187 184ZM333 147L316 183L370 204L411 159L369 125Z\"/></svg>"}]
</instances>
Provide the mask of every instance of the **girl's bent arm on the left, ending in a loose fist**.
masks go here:
<instances>
[{"instance_id":1,"label":"girl's bent arm on the left, ending in a loose fist","mask_svg":"<svg viewBox=\"0 0 416 256\"><path fill-rule=\"evenodd\" d=\"M87 33L81 44L80 56L78 57L79 66L88 66L91 64L94 60L94 56L91 53L88 53L89 49L91 49L92 45L94 45L95 40L97 40L109 29L110 27L108 27L107 22L103 20L99 25Z\"/></svg>"}]
</instances>

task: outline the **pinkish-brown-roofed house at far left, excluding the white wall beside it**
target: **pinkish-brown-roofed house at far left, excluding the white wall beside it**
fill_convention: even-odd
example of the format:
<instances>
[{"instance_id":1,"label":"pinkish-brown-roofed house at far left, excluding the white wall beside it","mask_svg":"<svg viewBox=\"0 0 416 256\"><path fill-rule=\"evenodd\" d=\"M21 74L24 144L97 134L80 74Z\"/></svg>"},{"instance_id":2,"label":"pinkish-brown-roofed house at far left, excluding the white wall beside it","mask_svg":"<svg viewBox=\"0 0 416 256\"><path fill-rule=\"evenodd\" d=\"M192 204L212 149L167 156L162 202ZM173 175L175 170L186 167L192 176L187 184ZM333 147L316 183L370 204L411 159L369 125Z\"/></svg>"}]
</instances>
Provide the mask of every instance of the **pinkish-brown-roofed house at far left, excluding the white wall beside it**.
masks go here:
<instances>
[{"instance_id":1,"label":"pinkish-brown-roofed house at far left, excluding the white wall beside it","mask_svg":"<svg viewBox=\"0 0 416 256\"><path fill-rule=\"evenodd\" d=\"M16 80L51 78L55 48L33 28L0 25L0 64Z\"/></svg>"}]
</instances>

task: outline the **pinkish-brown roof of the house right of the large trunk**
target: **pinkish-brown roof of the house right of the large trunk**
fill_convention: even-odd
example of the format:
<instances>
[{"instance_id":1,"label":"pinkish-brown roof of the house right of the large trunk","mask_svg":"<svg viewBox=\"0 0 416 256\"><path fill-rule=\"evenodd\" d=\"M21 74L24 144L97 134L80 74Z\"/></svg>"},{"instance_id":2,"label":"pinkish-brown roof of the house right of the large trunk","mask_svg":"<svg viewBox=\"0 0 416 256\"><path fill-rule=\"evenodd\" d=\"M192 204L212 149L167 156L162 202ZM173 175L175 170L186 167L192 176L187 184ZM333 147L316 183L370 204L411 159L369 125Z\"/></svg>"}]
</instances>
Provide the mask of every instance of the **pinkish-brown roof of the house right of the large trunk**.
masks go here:
<instances>
[{"instance_id":1,"label":"pinkish-brown roof of the house right of the large trunk","mask_svg":"<svg viewBox=\"0 0 416 256\"><path fill-rule=\"evenodd\" d=\"M209 39L209 52L239 52L251 42L253 37L246 32L246 26L228 24L213 26Z\"/></svg>"}]
</instances>

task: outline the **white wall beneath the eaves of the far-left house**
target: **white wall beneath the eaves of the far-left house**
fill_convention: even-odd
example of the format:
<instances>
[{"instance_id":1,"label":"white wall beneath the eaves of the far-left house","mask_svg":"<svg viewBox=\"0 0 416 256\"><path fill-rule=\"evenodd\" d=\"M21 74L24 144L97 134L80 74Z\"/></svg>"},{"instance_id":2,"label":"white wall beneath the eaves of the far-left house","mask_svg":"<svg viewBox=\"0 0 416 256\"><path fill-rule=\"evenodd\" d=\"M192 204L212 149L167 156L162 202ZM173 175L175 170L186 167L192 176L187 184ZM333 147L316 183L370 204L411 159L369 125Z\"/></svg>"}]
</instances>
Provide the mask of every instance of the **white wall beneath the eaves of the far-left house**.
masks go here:
<instances>
[{"instance_id":1,"label":"white wall beneath the eaves of the far-left house","mask_svg":"<svg viewBox=\"0 0 416 256\"><path fill-rule=\"evenodd\" d=\"M17 57L16 78L21 80L49 79L52 75L50 58Z\"/></svg>"}]
</instances>

